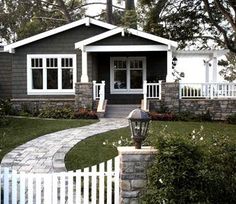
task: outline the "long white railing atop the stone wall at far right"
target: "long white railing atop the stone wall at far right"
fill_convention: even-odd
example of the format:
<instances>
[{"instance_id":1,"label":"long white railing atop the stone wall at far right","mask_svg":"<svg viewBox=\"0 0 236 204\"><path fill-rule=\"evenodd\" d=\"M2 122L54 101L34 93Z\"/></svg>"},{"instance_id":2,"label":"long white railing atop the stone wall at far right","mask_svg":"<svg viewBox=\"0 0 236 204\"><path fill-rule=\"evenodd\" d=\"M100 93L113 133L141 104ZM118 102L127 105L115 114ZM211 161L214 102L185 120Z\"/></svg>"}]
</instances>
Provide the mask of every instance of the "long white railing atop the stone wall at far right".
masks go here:
<instances>
[{"instance_id":1,"label":"long white railing atop the stone wall at far right","mask_svg":"<svg viewBox=\"0 0 236 204\"><path fill-rule=\"evenodd\" d=\"M236 83L180 83L182 98L235 98Z\"/></svg>"}]
</instances>

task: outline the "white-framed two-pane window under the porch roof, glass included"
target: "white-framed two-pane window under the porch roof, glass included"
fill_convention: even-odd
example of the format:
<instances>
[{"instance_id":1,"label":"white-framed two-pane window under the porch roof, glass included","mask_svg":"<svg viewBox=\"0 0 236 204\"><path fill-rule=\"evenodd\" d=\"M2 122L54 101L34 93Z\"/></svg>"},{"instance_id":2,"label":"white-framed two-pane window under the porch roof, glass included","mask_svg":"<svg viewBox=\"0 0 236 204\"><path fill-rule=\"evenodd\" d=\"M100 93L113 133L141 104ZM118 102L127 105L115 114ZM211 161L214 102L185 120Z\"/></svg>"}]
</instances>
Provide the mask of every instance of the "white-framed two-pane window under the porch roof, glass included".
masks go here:
<instances>
[{"instance_id":1,"label":"white-framed two-pane window under the porch roof, glass included","mask_svg":"<svg viewBox=\"0 0 236 204\"><path fill-rule=\"evenodd\" d=\"M141 94L146 80L146 57L111 57L110 79L113 94Z\"/></svg>"}]
</instances>

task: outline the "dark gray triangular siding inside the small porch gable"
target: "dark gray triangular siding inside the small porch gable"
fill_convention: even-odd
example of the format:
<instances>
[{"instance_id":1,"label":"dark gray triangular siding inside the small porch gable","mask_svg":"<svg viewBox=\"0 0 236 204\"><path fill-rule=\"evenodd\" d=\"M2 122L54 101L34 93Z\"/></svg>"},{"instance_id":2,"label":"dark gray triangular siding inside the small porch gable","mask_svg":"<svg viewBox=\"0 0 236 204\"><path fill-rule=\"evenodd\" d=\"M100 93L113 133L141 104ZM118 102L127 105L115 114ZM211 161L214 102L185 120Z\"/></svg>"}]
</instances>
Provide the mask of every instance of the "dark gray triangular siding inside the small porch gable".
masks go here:
<instances>
[{"instance_id":1,"label":"dark gray triangular siding inside the small porch gable","mask_svg":"<svg viewBox=\"0 0 236 204\"><path fill-rule=\"evenodd\" d=\"M126 34L125 36L121 36L120 33L90 45L161 45L161 43L147 40L135 35Z\"/></svg>"}]
</instances>

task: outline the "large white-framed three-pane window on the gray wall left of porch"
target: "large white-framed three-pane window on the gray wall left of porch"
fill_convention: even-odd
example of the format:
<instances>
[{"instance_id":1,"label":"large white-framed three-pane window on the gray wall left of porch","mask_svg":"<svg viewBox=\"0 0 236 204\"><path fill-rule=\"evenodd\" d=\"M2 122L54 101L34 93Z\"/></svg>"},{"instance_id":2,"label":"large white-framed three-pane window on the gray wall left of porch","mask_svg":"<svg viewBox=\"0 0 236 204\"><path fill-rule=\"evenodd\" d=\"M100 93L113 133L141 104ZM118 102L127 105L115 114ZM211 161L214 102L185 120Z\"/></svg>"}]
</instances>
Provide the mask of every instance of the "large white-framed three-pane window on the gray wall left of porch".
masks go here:
<instances>
[{"instance_id":1,"label":"large white-framed three-pane window on the gray wall left of porch","mask_svg":"<svg viewBox=\"0 0 236 204\"><path fill-rule=\"evenodd\" d=\"M74 94L75 54L27 55L27 94Z\"/></svg>"}]
</instances>

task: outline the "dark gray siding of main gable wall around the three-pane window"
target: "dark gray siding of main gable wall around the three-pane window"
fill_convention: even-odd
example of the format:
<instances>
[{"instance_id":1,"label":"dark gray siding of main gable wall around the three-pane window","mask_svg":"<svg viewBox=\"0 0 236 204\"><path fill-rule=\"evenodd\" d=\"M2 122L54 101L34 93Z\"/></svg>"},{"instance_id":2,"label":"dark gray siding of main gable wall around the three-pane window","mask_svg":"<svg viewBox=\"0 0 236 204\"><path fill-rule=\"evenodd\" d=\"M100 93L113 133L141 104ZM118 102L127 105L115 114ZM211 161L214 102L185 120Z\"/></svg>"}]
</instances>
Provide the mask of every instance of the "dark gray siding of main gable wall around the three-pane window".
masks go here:
<instances>
[{"instance_id":1,"label":"dark gray siding of main gable wall around the three-pane window","mask_svg":"<svg viewBox=\"0 0 236 204\"><path fill-rule=\"evenodd\" d=\"M17 48L12 65L13 98L42 98L42 96L27 96L27 54L77 54L77 81L80 81L82 66L81 51L75 50L74 43L105 31L107 29L95 25L82 25ZM88 55L88 74L91 80L92 62L90 55ZM55 96L44 96L44 98L50 97L55 98ZM58 96L56 97L58 98Z\"/></svg>"}]
</instances>

